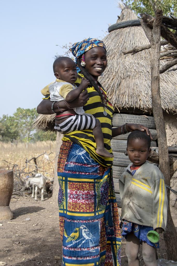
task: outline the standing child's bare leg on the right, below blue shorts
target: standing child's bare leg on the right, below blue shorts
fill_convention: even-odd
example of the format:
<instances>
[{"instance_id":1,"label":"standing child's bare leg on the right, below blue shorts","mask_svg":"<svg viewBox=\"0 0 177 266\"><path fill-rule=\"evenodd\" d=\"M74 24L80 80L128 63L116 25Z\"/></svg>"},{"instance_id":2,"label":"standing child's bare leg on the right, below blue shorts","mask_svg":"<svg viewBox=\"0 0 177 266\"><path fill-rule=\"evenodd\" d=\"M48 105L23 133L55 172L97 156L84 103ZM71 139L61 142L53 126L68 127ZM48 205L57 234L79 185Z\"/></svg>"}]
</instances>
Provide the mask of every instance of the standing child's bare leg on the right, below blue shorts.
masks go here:
<instances>
[{"instance_id":1,"label":"standing child's bare leg on the right, below blue shorts","mask_svg":"<svg viewBox=\"0 0 177 266\"><path fill-rule=\"evenodd\" d=\"M142 243L143 259L146 266L157 266L156 249L149 246L146 242Z\"/></svg>"}]
</instances>

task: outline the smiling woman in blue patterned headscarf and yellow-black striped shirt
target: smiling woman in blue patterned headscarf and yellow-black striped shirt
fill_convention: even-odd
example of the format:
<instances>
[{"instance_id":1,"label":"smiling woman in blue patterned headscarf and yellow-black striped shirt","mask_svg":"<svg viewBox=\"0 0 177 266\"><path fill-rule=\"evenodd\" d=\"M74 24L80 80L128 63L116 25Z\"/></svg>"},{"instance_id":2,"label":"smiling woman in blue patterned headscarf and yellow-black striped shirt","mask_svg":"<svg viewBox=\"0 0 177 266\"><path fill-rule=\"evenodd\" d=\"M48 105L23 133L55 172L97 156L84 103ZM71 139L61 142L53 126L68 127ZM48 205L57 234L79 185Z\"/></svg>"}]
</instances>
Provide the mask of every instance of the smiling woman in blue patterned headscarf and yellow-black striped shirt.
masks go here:
<instances>
[{"instance_id":1,"label":"smiling woman in blue patterned headscarf and yellow-black striped shirt","mask_svg":"<svg viewBox=\"0 0 177 266\"><path fill-rule=\"evenodd\" d=\"M84 105L85 113L98 118L102 125L105 148L112 152L112 137L148 128L126 124L112 128L114 108L98 82L107 66L106 47L100 40L85 39L71 49L79 66L76 85L81 77L90 81L77 101L59 102L61 111ZM46 97L48 98L48 97ZM52 103L43 100L41 114L51 114ZM55 103L53 111L58 113ZM44 111L45 110L45 111ZM63 136L58 158L59 223L63 244L63 265L120 265L119 217L112 177L112 158L98 156L93 132L75 131Z\"/></svg>"}]
</instances>

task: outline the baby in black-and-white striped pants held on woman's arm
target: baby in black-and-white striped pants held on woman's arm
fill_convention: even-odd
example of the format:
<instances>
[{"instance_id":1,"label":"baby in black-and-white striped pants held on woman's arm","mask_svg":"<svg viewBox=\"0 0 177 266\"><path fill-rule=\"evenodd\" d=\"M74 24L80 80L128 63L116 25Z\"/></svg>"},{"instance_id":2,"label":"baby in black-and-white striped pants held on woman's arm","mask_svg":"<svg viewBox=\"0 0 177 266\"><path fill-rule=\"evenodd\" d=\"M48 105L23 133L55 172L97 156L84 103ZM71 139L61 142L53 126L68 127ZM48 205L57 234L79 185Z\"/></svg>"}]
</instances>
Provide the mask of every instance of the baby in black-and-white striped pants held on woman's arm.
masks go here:
<instances>
[{"instance_id":1,"label":"baby in black-and-white striped pants held on woman's arm","mask_svg":"<svg viewBox=\"0 0 177 266\"><path fill-rule=\"evenodd\" d=\"M66 100L67 102L72 102L89 85L89 81L85 78L81 79L79 87L74 84L77 80L76 64L69 57L57 58L54 61L53 70L57 80L49 86L50 101L59 102ZM66 104L66 106L68 105ZM70 109L69 106L68 109ZM60 109L59 113L61 113ZM62 134L67 134L76 130L82 131L92 129L97 145L96 153L105 157L113 157L113 155L104 148L100 121L91 114L85 114L83 107L76 107L56 115L54 128Z\"/></svg>"}]
</instances>

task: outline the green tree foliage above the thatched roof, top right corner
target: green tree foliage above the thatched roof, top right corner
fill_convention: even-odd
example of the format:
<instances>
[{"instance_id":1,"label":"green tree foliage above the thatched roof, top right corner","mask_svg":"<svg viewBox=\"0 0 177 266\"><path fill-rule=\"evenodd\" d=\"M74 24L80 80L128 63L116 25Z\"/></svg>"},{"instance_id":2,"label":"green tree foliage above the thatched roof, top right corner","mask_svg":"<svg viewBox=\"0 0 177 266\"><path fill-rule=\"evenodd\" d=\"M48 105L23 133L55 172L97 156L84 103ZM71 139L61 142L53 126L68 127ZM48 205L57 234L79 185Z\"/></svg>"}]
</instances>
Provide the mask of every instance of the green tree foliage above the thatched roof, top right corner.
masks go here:
<instances>
[{"instance_id":1,"label":"green tree foliage above the thatched roof, top right corner","mask_svg":"<svg viewBox=\"0 0 177 266\"><path fill-rule=\"evenodd\" d=\"M127 0L129 8L136 12L137 15L147 13L154 16L156 9L162 9L163 15L177 16L176 0Z\"/></svg>"}]
</instances>

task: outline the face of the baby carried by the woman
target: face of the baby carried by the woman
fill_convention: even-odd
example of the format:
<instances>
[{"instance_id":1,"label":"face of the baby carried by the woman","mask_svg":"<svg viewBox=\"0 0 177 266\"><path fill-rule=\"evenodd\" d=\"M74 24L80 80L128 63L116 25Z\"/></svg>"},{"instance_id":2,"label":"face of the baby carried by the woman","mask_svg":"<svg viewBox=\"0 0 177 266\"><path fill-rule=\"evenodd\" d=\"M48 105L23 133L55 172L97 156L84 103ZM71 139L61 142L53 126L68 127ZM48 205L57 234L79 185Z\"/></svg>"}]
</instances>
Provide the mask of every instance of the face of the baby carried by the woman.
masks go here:
<instances>
[{"instance_id":1,"label":"face of the baby carried by the woman","mask_svg":"<svg viewBox=\"0 0 177 266\"><path fill-rule=\"evenodd\" d=\"M73 84L77 80L76 64L72 59L64 60L55 69L55 77Z\"/></svg>"}]
</instances>

